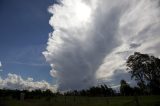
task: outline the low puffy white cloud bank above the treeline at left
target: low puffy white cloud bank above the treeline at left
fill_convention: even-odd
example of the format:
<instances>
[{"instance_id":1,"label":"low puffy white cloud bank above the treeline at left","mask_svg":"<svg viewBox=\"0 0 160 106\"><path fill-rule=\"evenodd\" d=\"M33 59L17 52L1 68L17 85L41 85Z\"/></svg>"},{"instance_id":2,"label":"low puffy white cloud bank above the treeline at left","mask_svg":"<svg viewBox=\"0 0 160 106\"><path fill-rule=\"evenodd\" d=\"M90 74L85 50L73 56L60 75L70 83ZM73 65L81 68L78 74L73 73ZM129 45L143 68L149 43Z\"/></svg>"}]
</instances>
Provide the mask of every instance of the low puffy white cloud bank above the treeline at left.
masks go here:
<instances>
[{"instance_id":1,"label":"low puffy white cloud bank above the treeline at left","mask_svg":"<svg viewBox=\"0 0 160 106\"><path fill-rule=\"evenodd\" d=\"M9 73L7 78L0 78L0 89L18 89L18 90L47 90L55 92L57 87L50 85L46 81L34 81L33 78L23 79L21 76Z\"/></svg>"}]
</instances>

